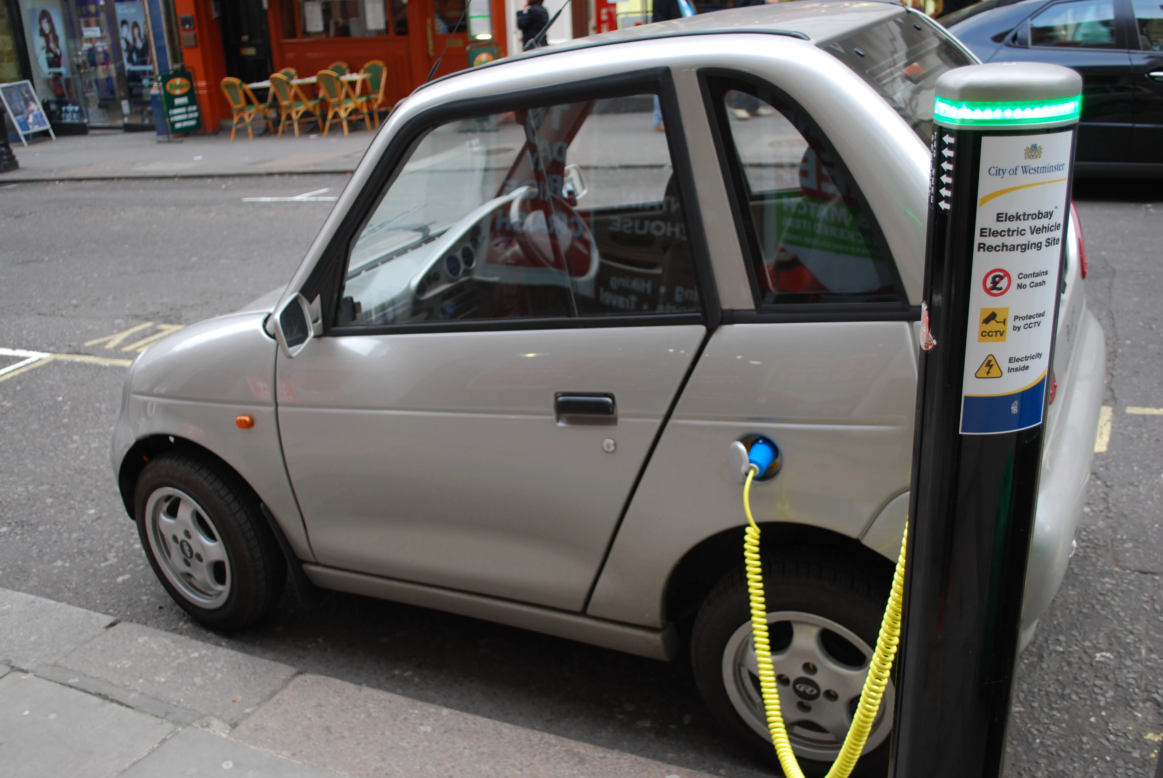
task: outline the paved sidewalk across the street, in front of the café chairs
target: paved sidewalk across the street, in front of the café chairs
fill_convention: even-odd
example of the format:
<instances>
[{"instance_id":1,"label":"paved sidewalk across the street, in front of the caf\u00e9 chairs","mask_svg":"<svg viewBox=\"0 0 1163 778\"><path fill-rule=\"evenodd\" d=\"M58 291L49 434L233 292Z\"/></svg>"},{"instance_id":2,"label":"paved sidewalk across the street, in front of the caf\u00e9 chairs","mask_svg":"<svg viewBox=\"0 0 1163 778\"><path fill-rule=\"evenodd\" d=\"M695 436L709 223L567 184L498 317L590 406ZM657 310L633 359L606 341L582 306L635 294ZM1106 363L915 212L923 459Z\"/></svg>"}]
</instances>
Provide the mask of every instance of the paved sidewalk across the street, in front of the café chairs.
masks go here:
<instances>
[{"instance_id":1,"label":"paved sidewalk across the street, in front of the caf\u00e9 chairs","mask_svg":"<svg viewBox=\"0 0 1163 778\"><path fill-rule=\"evenodd\" d=\"M361 124L362 128L362 124ZM88 135L45 137L13 144L20 167L0 173L0 186L13 181L99 178L183 178L269 176L274 173L347 173L356 169L374 133L331 128L323 137L256 136L242 133L192 135L181 143L158 143L154 133L93 130Z\"/></svg>"}]
</instances>

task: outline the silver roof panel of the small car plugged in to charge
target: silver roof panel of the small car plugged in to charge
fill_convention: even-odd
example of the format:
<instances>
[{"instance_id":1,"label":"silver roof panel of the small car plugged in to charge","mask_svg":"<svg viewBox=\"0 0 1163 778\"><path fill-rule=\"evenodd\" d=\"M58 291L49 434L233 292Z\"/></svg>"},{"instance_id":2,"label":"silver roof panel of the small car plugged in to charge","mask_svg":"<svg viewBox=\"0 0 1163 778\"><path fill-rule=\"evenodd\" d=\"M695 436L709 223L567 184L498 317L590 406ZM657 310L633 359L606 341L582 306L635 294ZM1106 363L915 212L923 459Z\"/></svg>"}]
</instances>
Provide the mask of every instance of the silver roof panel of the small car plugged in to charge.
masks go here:
<instances>
[{"instance_id":1,"label":"silver roof panel of the small car plugged in to charge","mask_svg":"<svg viewBox=\"0 0 1163 778\"><path fill-rule=\"evenodd\" d=\"M761 33L784 35L822 45L846 37L857 30L876 24L885 19L905 13L907 8L898 0L797 0L763 6L729 8L686 19L627 27L613 33L575 38L569 43L523 51L501 59L494 59L456 73L449 73L416 87L420 91L429 84L456 78L469 71L493 67L531 57L545 57L563 51L577 51L593 47L682 37L686 35L720 35L723 33Z\"/></svg>"}]
</instances>

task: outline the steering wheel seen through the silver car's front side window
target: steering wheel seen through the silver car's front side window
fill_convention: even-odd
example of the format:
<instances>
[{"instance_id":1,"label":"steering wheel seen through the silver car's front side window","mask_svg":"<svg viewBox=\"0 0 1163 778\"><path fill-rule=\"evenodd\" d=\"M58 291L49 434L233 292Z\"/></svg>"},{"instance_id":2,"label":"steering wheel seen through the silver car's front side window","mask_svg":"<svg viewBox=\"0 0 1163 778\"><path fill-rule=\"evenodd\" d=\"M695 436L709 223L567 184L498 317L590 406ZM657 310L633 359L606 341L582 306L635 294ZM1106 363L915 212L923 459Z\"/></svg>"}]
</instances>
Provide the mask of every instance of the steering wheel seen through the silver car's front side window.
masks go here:
<instances>
[{"instance_id":1,"label":"steering wheel seen through the silver car's front side window","mask_svg":"<svg viewBox=\"0 0 1163 778\"><path fill-rule=\"evenodd\" d=\"M530 192L531 194L533 192ZM588 279L598 273L598 251L590 226L578 215L569 200L552 195L552 226L557 247L571 278ZM516 198L509 206L513 237L533 266L562 270L554 256L554 235L548 229L545 209L534 206L533 198Z\"/></svg>"}]
</instances>

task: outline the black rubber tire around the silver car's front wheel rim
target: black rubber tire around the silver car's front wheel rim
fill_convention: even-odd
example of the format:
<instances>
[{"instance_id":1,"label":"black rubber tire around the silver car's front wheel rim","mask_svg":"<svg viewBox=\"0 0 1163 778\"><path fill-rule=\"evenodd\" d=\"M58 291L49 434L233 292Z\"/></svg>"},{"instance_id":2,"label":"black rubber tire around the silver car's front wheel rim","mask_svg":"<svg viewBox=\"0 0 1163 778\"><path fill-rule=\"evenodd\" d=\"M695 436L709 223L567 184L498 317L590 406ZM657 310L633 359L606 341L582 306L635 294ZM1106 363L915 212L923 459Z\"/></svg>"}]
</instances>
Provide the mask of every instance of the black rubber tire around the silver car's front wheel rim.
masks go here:
<instances>
[{"instance_id":1,"label":"black rubber tire around the silver car's front wheel rim","mask_svg":"<svg viewBox=\"0 0 1163 778\"><path fill-rule=\"evenodd\" d=\"M159 561L150 543L147 515L150 497L173 490L188 495L201 508L209 519L208 524L204 521L202 526L216 530L214 540L220 541L224 550L228 568L223 571L228 571L229 578L227 572L221 577L223 581L229 580L229 588L213 607L204 607L190 593L174 586L163 571L163 564L171 570L178 565ZM286 559L262 514L258 497L221 461L181 450L155 457L137 478L134 515L154 573L173 601L199 623L219 631L245 629L262 621L278 604L286 584ZM173 558L181 559L180 556Z\"/></svg>"}]
</instances>

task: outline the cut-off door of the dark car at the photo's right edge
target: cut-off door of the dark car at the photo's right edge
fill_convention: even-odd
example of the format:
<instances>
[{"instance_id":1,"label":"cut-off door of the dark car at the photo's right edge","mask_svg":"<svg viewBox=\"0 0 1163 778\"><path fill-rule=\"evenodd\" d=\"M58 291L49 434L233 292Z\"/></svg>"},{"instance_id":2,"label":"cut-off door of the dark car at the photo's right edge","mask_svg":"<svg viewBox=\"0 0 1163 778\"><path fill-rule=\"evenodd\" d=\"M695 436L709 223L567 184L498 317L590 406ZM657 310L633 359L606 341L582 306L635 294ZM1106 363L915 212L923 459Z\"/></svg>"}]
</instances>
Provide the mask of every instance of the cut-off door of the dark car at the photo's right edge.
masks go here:
<instances>
[{"instance_id":1,"label":"cut-off door of the dark car at the photo's right edge","mask_svg":"<svg viewBox=\"0 0 1163 778\"><path fill-rule=\"evenodd\" d=\"M1125 0L1128 1L1128 0ZM1163 164L1163 5L1129 0L1133 7L1130 70L1135 84L1133 162Z\"/></svg>"}]
</instances>

